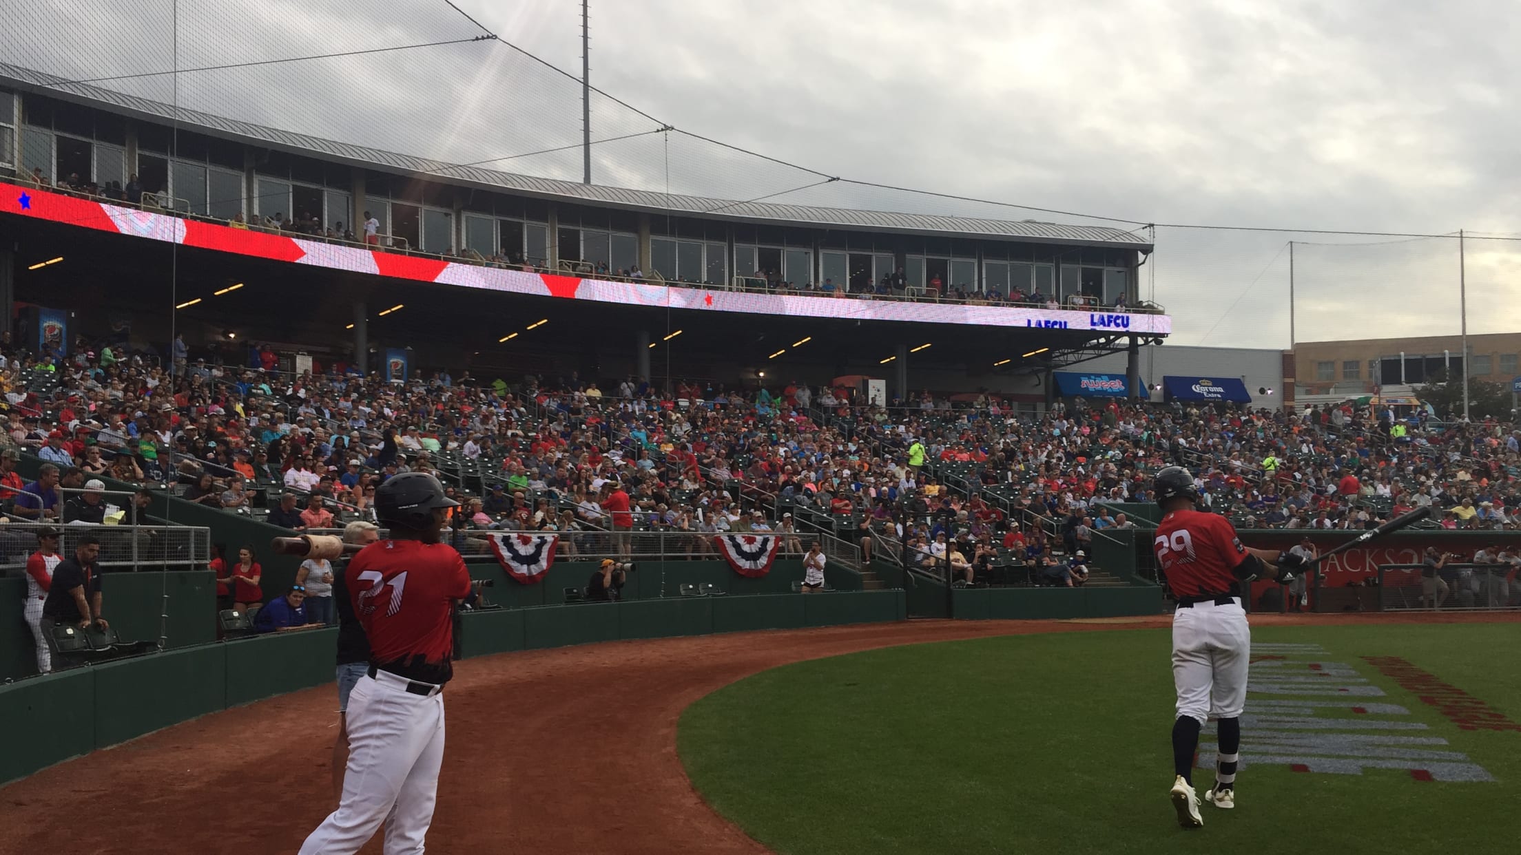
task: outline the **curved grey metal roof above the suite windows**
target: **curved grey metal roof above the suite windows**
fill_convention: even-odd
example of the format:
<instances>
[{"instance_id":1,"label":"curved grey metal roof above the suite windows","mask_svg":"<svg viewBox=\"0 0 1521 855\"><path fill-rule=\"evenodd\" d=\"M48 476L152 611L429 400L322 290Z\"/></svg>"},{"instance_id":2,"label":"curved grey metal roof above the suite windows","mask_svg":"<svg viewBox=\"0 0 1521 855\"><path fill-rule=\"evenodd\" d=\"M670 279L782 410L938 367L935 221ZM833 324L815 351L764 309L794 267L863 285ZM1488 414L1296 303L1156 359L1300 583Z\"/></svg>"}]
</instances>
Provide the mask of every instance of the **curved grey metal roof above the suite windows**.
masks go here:
<instances>
[{"instance_id":1,"label":"curved grey metal roof above the suite windows","mask_svg":"<svg viewBox=\"0 0 1521 855\"><path fill-rule=\"evenodd\" d=\"M785 205L713 199L625 187L578 184L554 178L538 178L499 172L479 166L459 166L388 152L367 146L295 134L249 122L225 119L210 113L175 110L173 106L117 93L88 84L71 84L62 78L0 62L0 82L18 88L155 123L176 122L179 128L243 145L277 149L330 163L391 172L406 178L426 178L441 184L494 190L549 201L634 210L659 215L697 216L760 225L791 225L830 230L876 231L890 234L928 234L984 240L1030 243L1062 243L1072 246L1103 246L1150 253L1151 243L1135 231L1100 225L1069 225L1037 221L1001 221L902 211L870 211L815 205Z\"/></svg>"}]
</instances>

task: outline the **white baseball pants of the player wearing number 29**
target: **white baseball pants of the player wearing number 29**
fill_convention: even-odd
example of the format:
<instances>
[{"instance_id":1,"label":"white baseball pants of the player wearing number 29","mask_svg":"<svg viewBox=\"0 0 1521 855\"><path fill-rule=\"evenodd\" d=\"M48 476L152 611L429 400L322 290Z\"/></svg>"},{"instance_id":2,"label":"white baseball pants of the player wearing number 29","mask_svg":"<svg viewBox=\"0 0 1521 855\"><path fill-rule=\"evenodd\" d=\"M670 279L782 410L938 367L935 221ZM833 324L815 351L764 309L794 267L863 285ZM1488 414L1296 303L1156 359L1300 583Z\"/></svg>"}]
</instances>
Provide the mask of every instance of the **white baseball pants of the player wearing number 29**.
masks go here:
<instances>
[{"instance_id":1,"label":"white baseball pants of the player wearing number 29","mask_svg":"<svg viewBox=\"0 0 1521 855\"><path fill-rule=\"evenodd\" d=\"M1240 601L1196 602L1173 613L1173 685L1177 715L1200 723L1237 718L1246 707L1252 630Z\"/></svg>"}]
</instances>

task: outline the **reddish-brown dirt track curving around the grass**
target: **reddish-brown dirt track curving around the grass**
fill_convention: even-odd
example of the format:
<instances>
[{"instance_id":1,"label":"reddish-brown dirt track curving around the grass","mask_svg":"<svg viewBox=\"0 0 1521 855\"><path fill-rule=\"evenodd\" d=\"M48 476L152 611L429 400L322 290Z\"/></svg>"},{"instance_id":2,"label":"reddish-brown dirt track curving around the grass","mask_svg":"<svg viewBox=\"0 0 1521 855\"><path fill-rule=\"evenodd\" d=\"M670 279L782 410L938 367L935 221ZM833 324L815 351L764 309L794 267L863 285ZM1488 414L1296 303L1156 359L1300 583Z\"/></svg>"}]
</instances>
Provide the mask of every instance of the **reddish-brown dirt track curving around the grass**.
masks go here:
<instances>
[{"instance_id":1,"label":"reddish-brown dirt track curving around the grass","mask_svg":"<svg viewBox=\"0 0 1521 855\"><path fill-rule=\"evenodd\" d=\"M1297 622L1515 621L1516 615L1253 616ZM697 698L765 668L967 637L1165 627L1113 621L913 621L610 642L458 663L432 853L760 853L713 814L675 755ZM321 686L213 714L0 790L0 852L295 852L333 808L336 695ZM46 738L46 735L37 735ZM24 738L11 733L8 738ZM377 835L364 852L380 852Z\"/></svg>"}]
</instances>

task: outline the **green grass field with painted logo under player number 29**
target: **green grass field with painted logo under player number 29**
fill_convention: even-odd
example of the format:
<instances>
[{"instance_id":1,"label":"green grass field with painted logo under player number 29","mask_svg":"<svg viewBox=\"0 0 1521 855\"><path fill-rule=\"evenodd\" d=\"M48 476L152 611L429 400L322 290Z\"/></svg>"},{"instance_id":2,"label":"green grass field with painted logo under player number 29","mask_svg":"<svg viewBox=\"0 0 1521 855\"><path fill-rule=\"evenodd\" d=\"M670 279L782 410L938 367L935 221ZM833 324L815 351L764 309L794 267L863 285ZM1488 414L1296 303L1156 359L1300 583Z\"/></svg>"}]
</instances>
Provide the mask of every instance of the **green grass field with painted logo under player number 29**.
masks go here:
<instances>
[{"instance_id":1,"label":"green grass field with painted logo under player number 29","mask_svg":"<svg viewBox=\"0 0 1521 855\"><path fill-rule=\"evenodd\" d=\"M709 803L783 855L1515 853L1521 732L1503 720L1521 721L1518 642L1515 624L1253 630L1247 717L1273 718L1244 720L1237 808L1202 805L1200 829L1167 797L1167 630L788 665L692 704L677 739ZM1443 692L1445 707L1418 697ZM1203 742L1200 794L1212 732Z\"/></svg>"}]
</instances>

